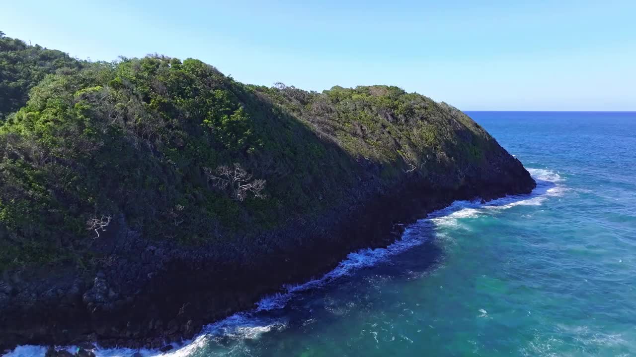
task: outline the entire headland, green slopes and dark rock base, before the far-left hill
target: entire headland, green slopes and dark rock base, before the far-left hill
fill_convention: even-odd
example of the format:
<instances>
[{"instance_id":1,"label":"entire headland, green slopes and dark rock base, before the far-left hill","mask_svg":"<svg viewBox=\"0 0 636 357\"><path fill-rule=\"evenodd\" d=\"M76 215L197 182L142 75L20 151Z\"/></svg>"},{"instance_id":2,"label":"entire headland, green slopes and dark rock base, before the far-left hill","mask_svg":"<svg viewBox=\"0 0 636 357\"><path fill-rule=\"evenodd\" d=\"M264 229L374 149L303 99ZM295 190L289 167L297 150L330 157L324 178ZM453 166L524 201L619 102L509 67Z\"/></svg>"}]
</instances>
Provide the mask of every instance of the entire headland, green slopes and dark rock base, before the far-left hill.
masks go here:
<instances>
[{"instance_id":1,"label":"entire headland, green slopes and dark rock base, before the far-left hill","mask_svg":"<svg viewBox=\"0 0 636 357\"><path fill-rule=\"evenodd\" d=\"M462 112L396 87L60 69L0 126L0 346L161 347L455 199L534 186Z\"/></svg>"}]
</instances>

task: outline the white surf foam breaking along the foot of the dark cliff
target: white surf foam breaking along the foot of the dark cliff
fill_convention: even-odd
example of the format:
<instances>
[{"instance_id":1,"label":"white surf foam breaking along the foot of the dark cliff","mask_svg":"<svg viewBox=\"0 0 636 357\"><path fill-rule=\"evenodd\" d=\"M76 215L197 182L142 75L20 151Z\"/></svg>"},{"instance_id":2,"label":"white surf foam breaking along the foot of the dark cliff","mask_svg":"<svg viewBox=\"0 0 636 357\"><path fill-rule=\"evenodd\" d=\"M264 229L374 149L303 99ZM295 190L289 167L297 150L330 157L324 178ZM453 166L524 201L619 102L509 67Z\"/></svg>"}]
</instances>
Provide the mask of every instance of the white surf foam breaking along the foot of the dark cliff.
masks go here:
<instances>
[{"instance_id":1,"label":"white surf foam breaking along the foot of the dark cliff","mask_svg":"<svg viewBox=\"0 0 636 357\"><path fill-rule=\"evenodd\" d=\"M427 237L423 232L438 226L457 224L457 220L470 217L478 217L497 210L506 210L514 206L526 205L537 206L551 196L561 196L567 188L558 184L562 182L562 177L551 170L528 168L530 175L537 181L537 187L530 194L511 195L504 198L494 199L488 203L481 204L481 200L455 201L450 206L429 213L425 219L418 220L415 224L406 228L402 238L395 241L386 248L365 248L357 252L349 253L347 259L342 260L338 266L322 278L307 281L301 285L286 285L284 292L265 297L256 304L256 309L247 313L237 313L225 320L212 323L203 328L198 337L193 340L184 341L182 344L174 344L175 349L169 353L161 353L157 350L141 349L139 351L128 348L97 349L97 357L130 357L135 352L139 352L144 357L151 356L174 356L185 357L198 349L203 348L209 340L219 339L258 339L260 335L272 330L282 330L286 323L281 320L263 320L256 316L261 311L282 309L287 305L294 295L303 291L322 288L333 281L348 276L358 269L375 266L380 262L387 261L393 255L404 252L413 246L421 245ZM481 312L481 311L480 311ZM481 316L480 316L481 317ZM74 347L69 347L73 350ZM18 346L14 351L6 354L6 357L32 357L44 356L46 348L43 346Z\"/></svg>"}]
</instances>

